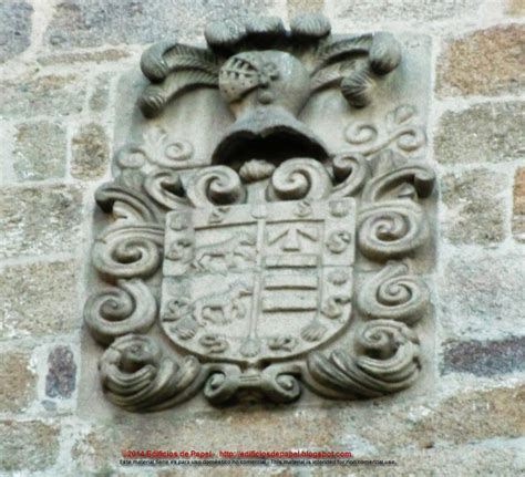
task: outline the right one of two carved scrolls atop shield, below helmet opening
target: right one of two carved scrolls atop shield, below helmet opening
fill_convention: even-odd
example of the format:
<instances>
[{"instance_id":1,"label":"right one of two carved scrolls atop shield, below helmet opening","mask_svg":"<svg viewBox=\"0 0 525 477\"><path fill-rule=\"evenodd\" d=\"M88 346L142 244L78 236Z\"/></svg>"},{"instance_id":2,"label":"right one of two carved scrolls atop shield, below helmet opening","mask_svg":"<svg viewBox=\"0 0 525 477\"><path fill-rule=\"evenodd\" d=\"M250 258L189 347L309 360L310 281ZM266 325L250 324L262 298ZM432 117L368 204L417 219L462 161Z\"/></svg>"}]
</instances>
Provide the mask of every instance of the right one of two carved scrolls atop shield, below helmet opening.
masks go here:
<instances>
[{"instance_id":1,"label":"right one of two carved scrolls atop shield, below helmet opening","mask_svg":"<svg viewBox=\"0 0 525 477\"><path fill-rule=\"evenodd\" d=\"M330 176L322 164L313 159L296 158L282 163L272 174L268 200L321 199L332 188Z\"/></svg>"}]
</instances>

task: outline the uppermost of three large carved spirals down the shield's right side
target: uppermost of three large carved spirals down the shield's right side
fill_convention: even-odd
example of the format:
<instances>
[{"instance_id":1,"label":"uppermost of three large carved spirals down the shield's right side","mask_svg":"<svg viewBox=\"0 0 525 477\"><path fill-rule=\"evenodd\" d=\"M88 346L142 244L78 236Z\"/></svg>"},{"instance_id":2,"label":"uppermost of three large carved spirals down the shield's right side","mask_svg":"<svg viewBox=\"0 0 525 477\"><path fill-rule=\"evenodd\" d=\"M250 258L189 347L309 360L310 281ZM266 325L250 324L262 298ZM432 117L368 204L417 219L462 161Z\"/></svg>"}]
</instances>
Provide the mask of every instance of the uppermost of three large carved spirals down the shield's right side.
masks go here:
<instances>
[{"instance_id":1,"label":"uppermost of three large carved spirals down the shield's right side","mask_svg":"<svg viewBox=\"0 0 525 477\"><path fill-rule=\"evenodd\" d=\"M380 261L413 252L426 242L430 234L423 209L408 200L363 207L358 227L361 252Z\"/></svg>"}]
</instances>

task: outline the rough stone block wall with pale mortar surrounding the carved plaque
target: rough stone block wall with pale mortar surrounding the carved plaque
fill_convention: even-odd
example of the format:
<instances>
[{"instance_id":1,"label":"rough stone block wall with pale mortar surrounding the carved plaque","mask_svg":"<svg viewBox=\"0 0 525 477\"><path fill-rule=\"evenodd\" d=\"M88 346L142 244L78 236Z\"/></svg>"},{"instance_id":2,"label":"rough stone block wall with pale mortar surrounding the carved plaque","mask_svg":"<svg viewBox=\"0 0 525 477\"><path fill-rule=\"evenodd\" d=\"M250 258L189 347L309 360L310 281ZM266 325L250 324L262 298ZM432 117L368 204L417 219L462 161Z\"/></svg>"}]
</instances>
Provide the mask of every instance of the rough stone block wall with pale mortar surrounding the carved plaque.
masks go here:
<instances>
[{"instance_id":1,"label":"rough stone block wall with pale mortar surrounding the carved plaque","mask_svg":"<svg viewBox=\"0 0 525 477\"><path fill-rule=\"evenodd\" d=\"M120 79L154 42L198 43L210 19L287 21L298 11L322 11L336 33L384 30L429 44L426 159L440 199L426 392L227 412L198 402L146 415L99 406L100 383L82 371L99 353L82 307L101 214L94 191L110 180L117 147ZM121 449L174 446L348 448L398 462L356 475L523 473L524 15L521 0L2 2L0 473L177 475L119 466Z\"/></svg>"}]
</instances>

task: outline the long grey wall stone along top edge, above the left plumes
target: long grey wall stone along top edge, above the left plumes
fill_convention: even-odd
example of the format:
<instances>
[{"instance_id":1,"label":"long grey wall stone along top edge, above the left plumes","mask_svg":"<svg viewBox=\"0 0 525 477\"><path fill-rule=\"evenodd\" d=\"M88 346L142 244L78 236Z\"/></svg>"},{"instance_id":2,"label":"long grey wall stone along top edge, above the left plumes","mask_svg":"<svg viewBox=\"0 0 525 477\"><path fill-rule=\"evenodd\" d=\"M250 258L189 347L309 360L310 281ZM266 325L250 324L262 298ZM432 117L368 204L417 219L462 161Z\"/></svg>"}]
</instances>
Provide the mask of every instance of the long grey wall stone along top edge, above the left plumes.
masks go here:
<instances>
[{"instance_id":1,"label":"long grey wall stone along top edge, above the left plumes","mask_svg":"<svg viewBox=\"0 0 525 477\"><path fill-rule=\"evenodd\" d=\"M50 45L151 43L200 35L207 20L264 14L272 0L65 0L58 3L45 39Z\"/></svg>"}]
</instances>

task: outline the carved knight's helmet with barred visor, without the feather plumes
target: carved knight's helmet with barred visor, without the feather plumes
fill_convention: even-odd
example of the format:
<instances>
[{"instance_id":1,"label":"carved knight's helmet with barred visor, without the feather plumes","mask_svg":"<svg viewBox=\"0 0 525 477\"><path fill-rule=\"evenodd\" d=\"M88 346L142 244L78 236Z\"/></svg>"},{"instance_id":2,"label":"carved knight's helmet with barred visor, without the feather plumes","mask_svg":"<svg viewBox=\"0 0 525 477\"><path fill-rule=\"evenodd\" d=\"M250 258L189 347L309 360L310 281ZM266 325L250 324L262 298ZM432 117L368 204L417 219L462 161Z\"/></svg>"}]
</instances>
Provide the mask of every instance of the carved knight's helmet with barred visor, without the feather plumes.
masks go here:
<instances>
[{"instance_id":1,"label":"carved knight's helmet with barred visor, without the feather plumes","mask_svg":"<svg viewBox=\"0 0 525 477\"><path fill-rule=\"evenodd\" d=\"M328 156L322 142L297 120L310 97L310 74L290 53L266 50L229 58L219 72L219 90L236 122L216 147L214 163L243 157L246 147L251 154Z\"/></svg>"}]
</instances>

